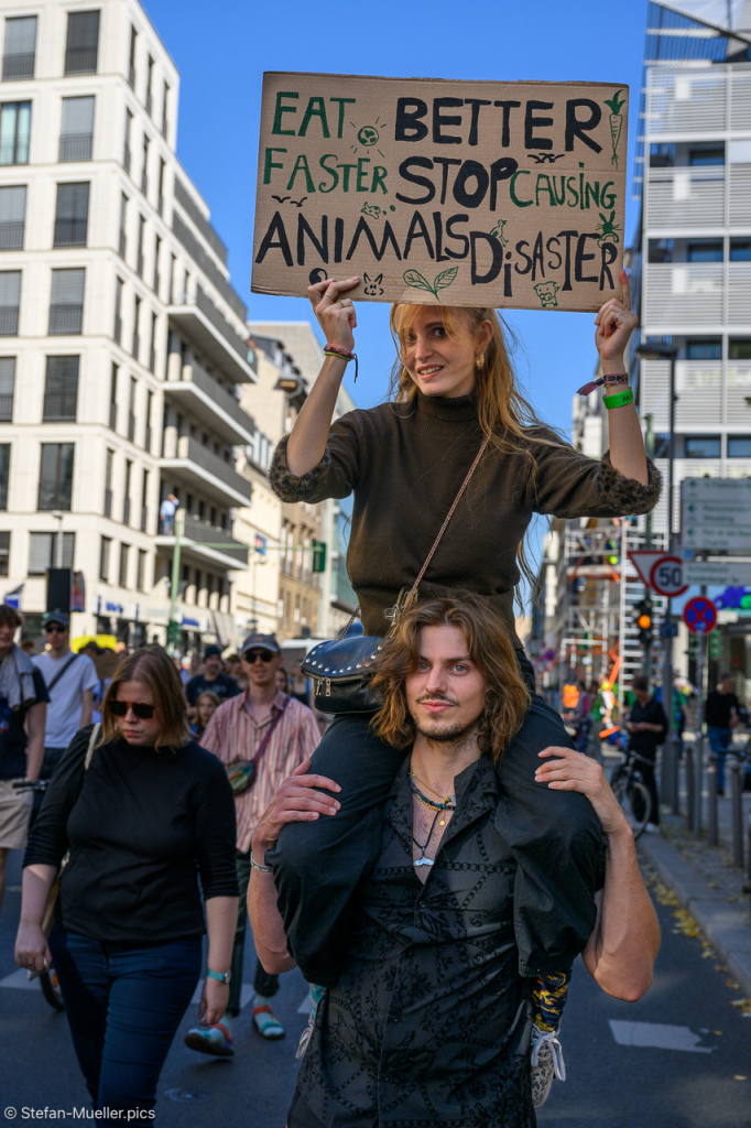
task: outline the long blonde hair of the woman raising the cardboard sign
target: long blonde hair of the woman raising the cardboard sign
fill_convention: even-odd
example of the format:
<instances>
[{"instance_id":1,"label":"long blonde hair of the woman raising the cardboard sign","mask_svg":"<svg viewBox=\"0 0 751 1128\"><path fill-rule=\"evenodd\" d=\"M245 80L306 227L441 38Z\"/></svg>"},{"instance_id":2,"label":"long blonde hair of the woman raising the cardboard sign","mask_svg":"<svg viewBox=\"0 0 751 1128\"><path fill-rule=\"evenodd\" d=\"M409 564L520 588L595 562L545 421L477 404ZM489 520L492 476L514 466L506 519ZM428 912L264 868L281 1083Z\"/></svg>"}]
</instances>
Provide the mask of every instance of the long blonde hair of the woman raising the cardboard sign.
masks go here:
<instances>
[{"instance_id":1,"label":"long blonde hair of the woman raising the cardboard sign","mask_svg":"<svg viewBox=\"0 0 751 1128\"><path fill-rule=\"evenodd\" d=\"M397 350L397 359L391 369L389 398L397 404L412 404L417 395L417 385L404 364L406 336L423 309L439 311L447 334L452 340L475 338L483 321L489 321L493 333L480 354L480 367L475 369L477 393L477 417L480 430L488 443L502 453L516 453L525 460L532 484L537 478L537 464L529 449L530 426L547 424L537 416L533 407L519 390L516 377L509 355L506 335L515 343L513 333L492 307L468 308L463 306L391 306L389 319L391 336ZM544 435L538 441L549 443ZM516 565L534 591L539 578L534 575L527 553L527 537L516 548ZM521 596L516 591L521 606Z\"/></svg>"}]
</instances>

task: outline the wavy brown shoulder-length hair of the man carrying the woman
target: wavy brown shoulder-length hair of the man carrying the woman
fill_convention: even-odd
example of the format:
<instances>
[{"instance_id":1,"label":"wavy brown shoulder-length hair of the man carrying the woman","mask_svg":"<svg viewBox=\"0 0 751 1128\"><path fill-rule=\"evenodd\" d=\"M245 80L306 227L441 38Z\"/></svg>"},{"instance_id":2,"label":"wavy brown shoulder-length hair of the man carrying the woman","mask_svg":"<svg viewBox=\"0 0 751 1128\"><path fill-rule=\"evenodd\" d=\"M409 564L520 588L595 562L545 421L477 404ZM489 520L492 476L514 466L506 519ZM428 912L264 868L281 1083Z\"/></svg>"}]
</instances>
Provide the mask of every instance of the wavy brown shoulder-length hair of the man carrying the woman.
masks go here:
<instances>
[{"instance_id":1,"label":"wavy brown shoulder-length hair of the man carrying the woman","mask_svg":"<svg viewBox=\"0 0 751 1128\"><path fill-rule=\"evenodd\" d=\"M519 731L529 706L527 688L509 628L496 610L471 592L431 599L406 611L381 651L373 689L383 698L372 726L395 748L415 740L415 723L407 710L406 679L419 663L419 635L424 627L459 627L469 658L486 684L485 708L479 720L479 746L497 763Z\"/></svg>"}]
</instances>

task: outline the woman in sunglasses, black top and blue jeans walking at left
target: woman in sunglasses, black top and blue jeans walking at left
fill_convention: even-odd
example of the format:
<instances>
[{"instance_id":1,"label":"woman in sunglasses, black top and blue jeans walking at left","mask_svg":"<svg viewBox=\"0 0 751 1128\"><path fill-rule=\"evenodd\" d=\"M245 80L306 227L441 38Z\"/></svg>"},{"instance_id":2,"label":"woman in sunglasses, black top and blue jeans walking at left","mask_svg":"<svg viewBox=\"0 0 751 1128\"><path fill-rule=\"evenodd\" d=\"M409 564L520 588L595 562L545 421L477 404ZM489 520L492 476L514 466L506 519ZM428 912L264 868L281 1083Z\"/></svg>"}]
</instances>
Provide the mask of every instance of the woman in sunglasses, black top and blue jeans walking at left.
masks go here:
<instances>
[{"instance_id":1,"label":"woman in sunglasses, black top and blue jeans walking at left","mask_svg":"<svg viewBox=\"0 0 751 1128\"><path fill-rule=\"evenodd\" d=\"M94 1108L144 1120L198 982L206 926L202 1020L219 1022L227 1006L235 804L222 765L191 738L179 675L158 646L115 671L87 766L91 737L85 729L69 746L29 839L16 962L54 962ZM42 919L67 853L47 944Z\"/></svg>"}]
</instances>

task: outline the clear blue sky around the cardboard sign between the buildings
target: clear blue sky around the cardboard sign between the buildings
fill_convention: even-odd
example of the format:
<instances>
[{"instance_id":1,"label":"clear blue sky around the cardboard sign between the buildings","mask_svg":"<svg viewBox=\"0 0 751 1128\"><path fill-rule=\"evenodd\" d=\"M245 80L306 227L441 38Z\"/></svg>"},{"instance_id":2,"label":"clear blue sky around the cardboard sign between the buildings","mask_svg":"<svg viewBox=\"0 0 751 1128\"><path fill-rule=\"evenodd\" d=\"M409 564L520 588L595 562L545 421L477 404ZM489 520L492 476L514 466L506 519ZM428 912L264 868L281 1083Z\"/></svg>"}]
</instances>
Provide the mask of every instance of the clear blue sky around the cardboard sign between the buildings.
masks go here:
<instances>
[{"instance_id":1,"label":"clear blue sky around the cardboard sign between the buildings","mask_svg":"<svg viewBox=\"0 0 751 1128\"><path fill-rule=\"evenodd\" d=\"M265 70L628 85L630 182L646 0L611 9L591 0L145 0L145 10L180 72L177 155L211 208L253 319L311 316L304 299L250 293ZM636 220L629 204L629 236ZM360 378L347 386L360 407L386 395L394 360L387 319L388 306L359 311ZM507 320L521 342L516 368L529 398L545 420L568 430L572 396L597 359L593 316L520 310Z\"/></svg>"}]
</instances>

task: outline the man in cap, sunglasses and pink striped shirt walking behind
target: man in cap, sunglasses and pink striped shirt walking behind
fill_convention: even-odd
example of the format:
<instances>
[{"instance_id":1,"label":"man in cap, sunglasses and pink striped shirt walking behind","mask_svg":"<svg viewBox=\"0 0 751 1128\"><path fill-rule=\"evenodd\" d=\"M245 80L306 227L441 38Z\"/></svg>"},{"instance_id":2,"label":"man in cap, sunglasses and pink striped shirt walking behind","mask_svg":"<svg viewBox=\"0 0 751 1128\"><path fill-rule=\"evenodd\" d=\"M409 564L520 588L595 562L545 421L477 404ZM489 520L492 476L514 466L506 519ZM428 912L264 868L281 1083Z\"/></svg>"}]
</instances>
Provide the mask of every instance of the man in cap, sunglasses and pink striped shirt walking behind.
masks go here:
<instances>
[{"instance_id":1,"label":"man in cap, sunglasses and pink striped shirt walking behind","mask_svg":"<svg viewBox=\"0 0 751 1128\"><path fill-rule=\"evenodd\" d=\"M223 702L211 717L201 743L227 767L255 759L255 777L245 791L236 791L237 875L240 887L230 997L222 1022L196 1026L185 1036L191 1049L231 1057L232 1019L240 1013L242 953L247 924L246 895L250 878L250 837L274 793L303 760L313 752L320 731L311 711L276 688L282 652L274 635L249 635L240 651L248 679L245 693ZM237 775L237 770L231 775ZM263 1038L283 1038L284 1028L275 1019L271 998L279 990L279 977L264 971L256 961L253 1022Z\"/></svg>"}]
</instances>

